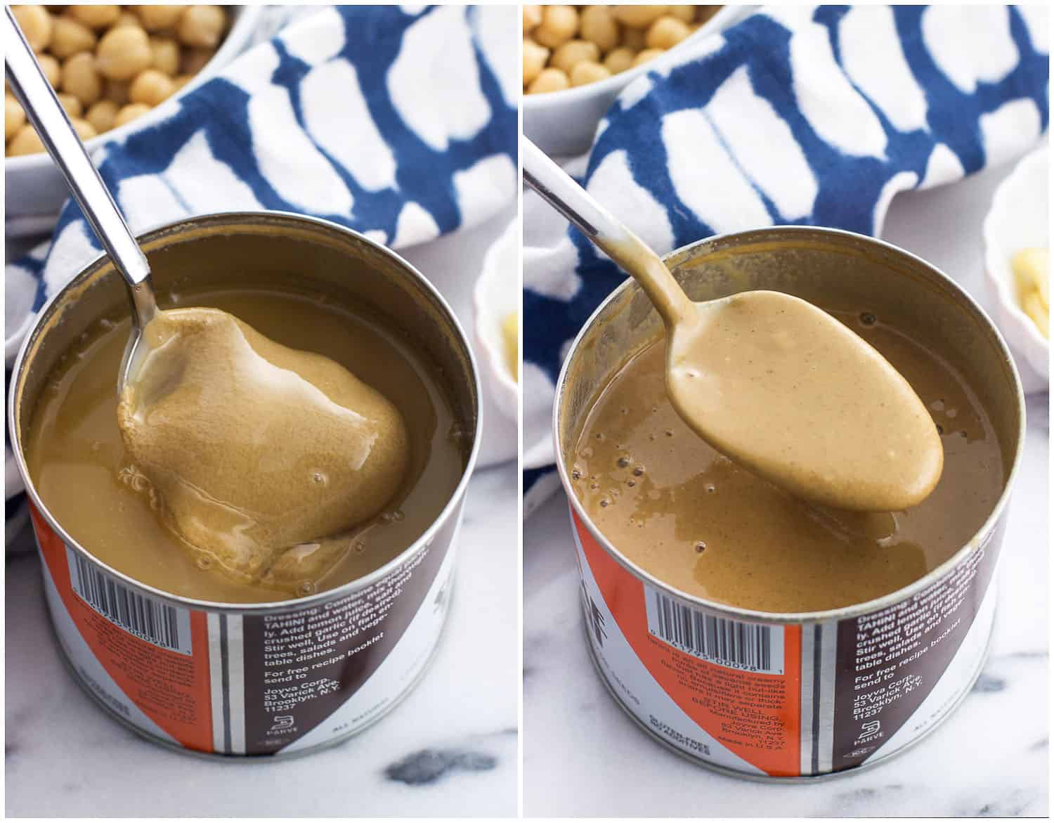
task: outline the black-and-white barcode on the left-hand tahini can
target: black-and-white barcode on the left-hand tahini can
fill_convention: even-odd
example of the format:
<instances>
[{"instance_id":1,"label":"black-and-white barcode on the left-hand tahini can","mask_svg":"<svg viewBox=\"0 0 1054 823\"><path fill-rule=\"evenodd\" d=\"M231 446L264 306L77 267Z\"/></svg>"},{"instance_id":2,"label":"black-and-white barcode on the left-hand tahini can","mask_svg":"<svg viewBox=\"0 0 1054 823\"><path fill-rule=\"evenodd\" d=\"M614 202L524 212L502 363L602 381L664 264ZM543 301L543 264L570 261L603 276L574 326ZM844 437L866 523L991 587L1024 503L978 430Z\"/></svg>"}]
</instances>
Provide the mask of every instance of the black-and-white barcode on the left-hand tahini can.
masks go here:
<instances>
[{"instance_id":1,"label":"black-and-white barcode on the left-hand tahini can","mask_svg":"<svg viewBox=\"0 0 1054 823\"><path fill-rule=\"evenodd\" d=\"M92 609L148 643L180 654L191 653L191 615L187 609L136 593L69 547L66 560L74 592Z\"/></svg>"}]
</instances>

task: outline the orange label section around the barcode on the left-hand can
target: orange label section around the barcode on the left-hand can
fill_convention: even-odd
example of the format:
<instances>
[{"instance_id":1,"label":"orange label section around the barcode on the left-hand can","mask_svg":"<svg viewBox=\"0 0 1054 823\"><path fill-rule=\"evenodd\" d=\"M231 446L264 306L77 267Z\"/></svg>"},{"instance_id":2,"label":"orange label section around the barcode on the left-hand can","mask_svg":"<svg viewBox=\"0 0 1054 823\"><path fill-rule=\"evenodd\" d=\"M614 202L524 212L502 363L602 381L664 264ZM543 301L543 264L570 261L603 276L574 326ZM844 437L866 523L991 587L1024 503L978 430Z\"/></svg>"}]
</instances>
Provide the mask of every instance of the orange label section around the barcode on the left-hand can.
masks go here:
<instances>
[{"instance_id":1,"label":"orange label section around the barcode on the left-hand can","mask_svg":"<svg viewBox=\"0 0 1054 823\"><path fill-rule=\"evenodd\" d=\"M52 582L96 660L124 697L181 745L198 751L212 751L206 613L190 612L190 657L137 638L77 596L70 581L65 544L32 504L30 513Z\"/></svg>"}]
</instances>

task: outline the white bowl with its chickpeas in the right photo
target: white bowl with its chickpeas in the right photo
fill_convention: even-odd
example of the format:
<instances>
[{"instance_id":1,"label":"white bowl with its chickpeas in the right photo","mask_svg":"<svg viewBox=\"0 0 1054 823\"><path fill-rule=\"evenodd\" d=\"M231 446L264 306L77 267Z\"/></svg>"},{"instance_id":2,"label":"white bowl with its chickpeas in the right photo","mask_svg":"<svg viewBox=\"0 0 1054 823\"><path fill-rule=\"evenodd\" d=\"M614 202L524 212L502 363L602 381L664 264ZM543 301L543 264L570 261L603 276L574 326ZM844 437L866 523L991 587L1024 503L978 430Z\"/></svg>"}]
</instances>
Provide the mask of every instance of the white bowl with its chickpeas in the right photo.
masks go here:
<instances>
[{"instance_id":1,"label":"white bowl with its chickpeas in the right photo","mask_svg":"<svg viewBox=\"0 0 1054 823\"><path fill-rule=\"evenodd\" d=\"M525 5L524 134L555 157L584 153L614 98L653 60L756 7Z\"/></svg>"}]
</instances>

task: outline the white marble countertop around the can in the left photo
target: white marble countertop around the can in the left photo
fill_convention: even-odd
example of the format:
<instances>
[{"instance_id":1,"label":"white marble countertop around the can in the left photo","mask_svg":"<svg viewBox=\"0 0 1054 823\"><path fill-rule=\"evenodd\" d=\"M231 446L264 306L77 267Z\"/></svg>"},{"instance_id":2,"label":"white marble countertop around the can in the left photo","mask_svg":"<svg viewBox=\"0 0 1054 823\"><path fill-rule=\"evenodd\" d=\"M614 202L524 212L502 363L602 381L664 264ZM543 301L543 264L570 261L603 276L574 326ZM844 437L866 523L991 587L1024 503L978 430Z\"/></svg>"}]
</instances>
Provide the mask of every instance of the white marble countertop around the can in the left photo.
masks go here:
<instances>
[{"instance_id":1,"label":"white marble countertop around the can in the left photo","mask_svg":"<svg viewBox=\"0 0 1054 823\"><path fill-rule=\"evenodd\" d=\"M471 231L403 253L467 328L474 273L513 214L514 203ZM493 420L487 435L507 430ZM60 660L36 552L8 554L7 815L515 816L518 516L515 463L477 469L458 537L449 623L422 682L390 716L348 742L268 763L171 751L103 713Z\"/></svg>"}]
</instances>

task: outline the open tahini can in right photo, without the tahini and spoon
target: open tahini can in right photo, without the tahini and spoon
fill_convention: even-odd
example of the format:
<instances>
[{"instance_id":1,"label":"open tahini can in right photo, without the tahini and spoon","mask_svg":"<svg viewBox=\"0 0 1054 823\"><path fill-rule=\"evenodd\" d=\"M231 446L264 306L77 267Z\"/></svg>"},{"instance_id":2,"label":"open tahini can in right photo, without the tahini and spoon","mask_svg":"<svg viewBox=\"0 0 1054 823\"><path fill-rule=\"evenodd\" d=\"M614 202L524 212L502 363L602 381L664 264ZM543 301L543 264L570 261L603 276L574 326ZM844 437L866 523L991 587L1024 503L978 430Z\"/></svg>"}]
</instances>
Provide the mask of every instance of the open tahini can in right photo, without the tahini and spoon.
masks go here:
<instances>
[{"instance_id":1,"label":"open tahini can in right photo, without the tahini and spoon","mask_svg":"<svg viewBox=\"0 0 1054 823\"><path fill-rule=\"evenodd\" d=\"M574 495L567 458L592 403L631 354L662 334L636 282L619 287L589 318L558 381L558 467L586 634L616 701L668 748L740 777L816 779L880 763L946 718L984 662L1024 432L1011 355L948 276L868 237L762 229L694 243L666 262L695 300L747 289L821 305L865 297L958 368L992 416L1004 488L965 546L879 600L774 614L689 596L648 574L601 534Z\"/></svg>"}]
</instances>

